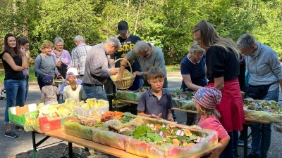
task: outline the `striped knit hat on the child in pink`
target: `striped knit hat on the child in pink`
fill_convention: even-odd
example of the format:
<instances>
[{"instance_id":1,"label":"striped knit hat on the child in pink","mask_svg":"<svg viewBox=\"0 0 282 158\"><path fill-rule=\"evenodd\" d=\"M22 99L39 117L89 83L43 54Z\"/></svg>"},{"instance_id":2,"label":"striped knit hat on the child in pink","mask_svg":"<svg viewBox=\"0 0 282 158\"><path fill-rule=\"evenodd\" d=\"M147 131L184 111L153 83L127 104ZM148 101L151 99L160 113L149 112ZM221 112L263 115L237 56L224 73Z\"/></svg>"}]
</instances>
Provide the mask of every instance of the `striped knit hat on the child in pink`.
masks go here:
<instances>
[{"instance_id":1,"label":"striped knit hat on the child in pink","mask_svg":"<svg viewBox=\"0 0 282 158\"><path fill-rule=\"evenodd\" d=\"M207 109L214 109L221 102L221 98L221 91L210 86L200 88L194 96L195 101Z\"/></svg>"}]
</instances>

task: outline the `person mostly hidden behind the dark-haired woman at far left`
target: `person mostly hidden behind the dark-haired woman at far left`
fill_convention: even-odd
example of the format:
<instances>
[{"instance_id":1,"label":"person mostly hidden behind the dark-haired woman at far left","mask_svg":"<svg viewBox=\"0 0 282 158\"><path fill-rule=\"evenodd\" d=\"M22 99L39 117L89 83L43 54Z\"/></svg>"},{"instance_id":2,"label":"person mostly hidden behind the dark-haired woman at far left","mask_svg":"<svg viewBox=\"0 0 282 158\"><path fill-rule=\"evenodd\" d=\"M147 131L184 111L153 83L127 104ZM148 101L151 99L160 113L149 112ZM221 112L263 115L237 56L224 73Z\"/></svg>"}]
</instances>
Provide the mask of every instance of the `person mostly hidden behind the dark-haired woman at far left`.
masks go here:
<instances>
[{"instance_id":1,"label":"person mostly hidden behind the dark-haired woman at far left","mask_svg":"<svg viewBox=\"0 0 282 158\"><path fill-rule=\"evenodd\" d=\"M27 53L27 51L30 50L30 41L28 41L27 39L23 37L18 39L18 45L23 46L23 48L25 48L25 53ZM28 62L28 58L27 58L27 62ZM26 81L25 100L27 98L27 93L28 93L28 79L30 78L29 74L30 74L30 69L27 64L27 69L23 70L23 75L25 76L25 81Z\"/></svg>"}]
</instances>

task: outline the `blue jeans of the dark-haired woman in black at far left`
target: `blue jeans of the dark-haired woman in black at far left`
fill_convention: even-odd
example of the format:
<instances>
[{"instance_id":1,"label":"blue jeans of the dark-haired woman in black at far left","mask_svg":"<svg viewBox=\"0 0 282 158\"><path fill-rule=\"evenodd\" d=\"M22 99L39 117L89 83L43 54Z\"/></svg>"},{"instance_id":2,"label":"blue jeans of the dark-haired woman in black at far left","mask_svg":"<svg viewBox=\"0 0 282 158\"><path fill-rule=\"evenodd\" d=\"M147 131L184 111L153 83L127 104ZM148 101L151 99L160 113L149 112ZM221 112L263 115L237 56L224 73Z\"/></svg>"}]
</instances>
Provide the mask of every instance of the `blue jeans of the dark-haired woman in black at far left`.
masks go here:
<instances>
[{"instance_id":1,"label":"blue jeans of the dark-haired woman in black at far left","mask_svg":"<svg viewBox=\"0 0 282 158\"><path fill-rule=\"evenodd\" d=\"M4 124L10 124L8 119L8 108L14 106L23 106L25 103L25 89L26 81L8 79L4 80L4 86L6 89L6 110ZM16 103L17 100L17 103Z\"/></svg>"}]
</instances>

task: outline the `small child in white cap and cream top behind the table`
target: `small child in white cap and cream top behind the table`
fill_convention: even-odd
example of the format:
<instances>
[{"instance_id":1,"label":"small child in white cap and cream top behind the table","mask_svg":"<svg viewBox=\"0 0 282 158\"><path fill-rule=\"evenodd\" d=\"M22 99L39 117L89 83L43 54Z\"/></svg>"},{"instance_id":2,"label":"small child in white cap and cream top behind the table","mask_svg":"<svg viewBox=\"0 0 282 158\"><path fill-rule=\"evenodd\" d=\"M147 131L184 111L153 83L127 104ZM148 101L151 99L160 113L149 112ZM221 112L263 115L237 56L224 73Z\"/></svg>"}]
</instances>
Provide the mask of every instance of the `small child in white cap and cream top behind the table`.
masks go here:
<instances>
[{"instance_id":1,"label":"small child in white cap and cream top behind the table","mask_svg":"<svg viewBox=\"0 0 282 158\"><path fill-rule=\"evenodd\" d=\"M63 100L67 98L72 98L73 100L86 100L85 92L83 87L78 85L78 81L73 74L68 74L68 79L66 79L68 86L63 88Z\"/></svg>"}]
</instances>

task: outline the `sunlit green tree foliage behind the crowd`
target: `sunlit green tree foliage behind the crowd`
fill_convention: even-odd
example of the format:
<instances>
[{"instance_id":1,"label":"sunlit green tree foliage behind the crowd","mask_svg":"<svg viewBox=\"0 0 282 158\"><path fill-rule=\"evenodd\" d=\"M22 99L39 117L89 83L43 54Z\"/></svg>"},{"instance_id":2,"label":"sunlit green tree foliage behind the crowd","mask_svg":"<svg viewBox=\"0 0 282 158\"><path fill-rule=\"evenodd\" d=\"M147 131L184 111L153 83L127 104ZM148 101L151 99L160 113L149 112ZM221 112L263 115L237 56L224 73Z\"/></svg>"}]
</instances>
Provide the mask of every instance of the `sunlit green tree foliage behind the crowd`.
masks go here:
<instances>
[{"instance_id":1,"label":"sunlit green tree foliage behind the crowd","mask_svg":"<svg viewBox=\"0 0 282 158\"><path fill-rule=\"evenodd\" d=\"M188 53L192 27L204 19L233 41L254 34L280 56L281 8L282 0L0 0L0 47L11 32L30 40L32 58L42 42L55 37L71 52L76 35L97 44L118 35L118 22L126 20L131 34L154 41L166 65L176 65Z\"/></svg>"}]
</instances>

